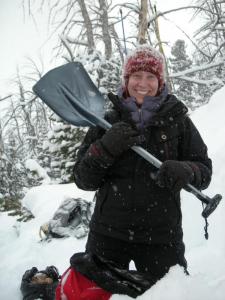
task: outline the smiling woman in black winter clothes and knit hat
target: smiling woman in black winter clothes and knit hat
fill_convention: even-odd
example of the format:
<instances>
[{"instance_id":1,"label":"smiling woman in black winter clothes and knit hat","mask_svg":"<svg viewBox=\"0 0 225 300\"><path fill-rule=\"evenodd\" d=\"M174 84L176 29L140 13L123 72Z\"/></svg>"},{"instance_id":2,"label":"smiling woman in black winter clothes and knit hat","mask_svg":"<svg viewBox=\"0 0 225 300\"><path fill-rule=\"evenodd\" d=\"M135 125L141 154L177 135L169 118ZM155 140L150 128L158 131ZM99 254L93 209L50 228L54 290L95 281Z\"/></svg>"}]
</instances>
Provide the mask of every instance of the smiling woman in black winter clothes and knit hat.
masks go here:
<instances>
[{"instance_id":1,"label":"smiling woman in black winter clothes and knit hat","mask_svg":"<svg viewBox=\"0 0 225 300\"><path fill-rule=\"evenodd\" d=\"M206 188L212 165L187 108L168 93L164 61L140 46L127 58L123 87L109 94L105 132L89 129L74 168L75 183L97 190L86 251L160 279L173 265L187 267L180 190ZM130 147L140 145L163 162L159 170Z\"/></svg>"}]
</instances>

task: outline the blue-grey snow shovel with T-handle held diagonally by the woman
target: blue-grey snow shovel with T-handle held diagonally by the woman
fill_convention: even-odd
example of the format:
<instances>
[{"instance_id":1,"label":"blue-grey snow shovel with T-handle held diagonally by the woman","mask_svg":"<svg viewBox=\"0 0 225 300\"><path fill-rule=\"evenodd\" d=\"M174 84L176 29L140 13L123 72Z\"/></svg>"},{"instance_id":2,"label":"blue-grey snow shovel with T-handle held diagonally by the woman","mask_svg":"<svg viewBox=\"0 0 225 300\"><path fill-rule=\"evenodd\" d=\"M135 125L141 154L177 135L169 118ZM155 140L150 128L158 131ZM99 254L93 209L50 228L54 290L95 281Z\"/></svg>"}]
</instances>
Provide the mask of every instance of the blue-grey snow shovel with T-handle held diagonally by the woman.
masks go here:
<instances>
[{"instance_id":1,"label":"blue-grey snow shovel with T-handle held diagonally by the woman","mask_svg":"<svg viewBox=\"0 0 225 300\"><path fill-rule=\"evenodd\" d=\"M47 72L33 87L57 115L75 126L100 126L109 129L112 125L104 120L105 99L90 79L80 62L71 62ZM132 150L160 168L162 162L139 146ZM188 189L206 204L202 216L207 218L222 199L220 194L210 198L191 184Z\"/></svg>"}]
</instances>

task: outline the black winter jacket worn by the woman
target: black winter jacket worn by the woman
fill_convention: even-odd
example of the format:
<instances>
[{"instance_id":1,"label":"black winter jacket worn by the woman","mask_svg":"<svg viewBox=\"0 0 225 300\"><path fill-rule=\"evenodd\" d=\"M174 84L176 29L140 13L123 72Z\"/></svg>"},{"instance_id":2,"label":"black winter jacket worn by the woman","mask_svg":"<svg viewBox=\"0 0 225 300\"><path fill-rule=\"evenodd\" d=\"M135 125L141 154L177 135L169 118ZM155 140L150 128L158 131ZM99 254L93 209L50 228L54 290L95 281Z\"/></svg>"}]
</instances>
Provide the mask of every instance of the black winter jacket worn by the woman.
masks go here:
<instances>
[{"instance_id":1,"label":"black winter jacket worn by the woman","mask_svg":"<svg viewBox=\"0 0 225 300\"><path fill-rule=\"evenodd\" d=\"M131 122L130 113L118 96L106 114L112 124ZM94 232L131 242L168 243L182 240L180 193L159 187L157 169L132 149L115 159L99 146L104 130L90 128L78 152L75 183L84 190L97 190L90 223ZM212 164L207 147L187 116L187 108L168 95L157 114L142 131L141 147L161 161L187 161L198 189L211 180Z\"/></svg>"}]
</instances>

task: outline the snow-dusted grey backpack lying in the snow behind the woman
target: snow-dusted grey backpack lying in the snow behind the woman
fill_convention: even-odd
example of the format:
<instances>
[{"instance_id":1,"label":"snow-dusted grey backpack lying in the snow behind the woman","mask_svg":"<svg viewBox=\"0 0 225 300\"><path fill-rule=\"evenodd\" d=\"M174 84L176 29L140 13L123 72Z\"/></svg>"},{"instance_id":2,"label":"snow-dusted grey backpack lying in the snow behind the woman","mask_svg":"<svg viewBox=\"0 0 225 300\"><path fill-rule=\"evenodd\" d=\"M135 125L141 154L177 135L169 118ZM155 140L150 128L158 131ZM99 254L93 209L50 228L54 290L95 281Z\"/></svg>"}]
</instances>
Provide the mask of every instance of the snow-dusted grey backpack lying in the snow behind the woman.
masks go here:
<instances>
[{"instance_id":1,"label":"snow-dusted grey backpack lying in the snow behind the woman","mask_svg":"<svg viewBox=\"0 0 225 300\"><path fill-rule=\"evenodd\" d=\"M69 198L63 201L53 218L40 227L46 238L61 238L73 236L82 238L89 231L93 202L81 198Z\"/></svg>"}]
</instances>

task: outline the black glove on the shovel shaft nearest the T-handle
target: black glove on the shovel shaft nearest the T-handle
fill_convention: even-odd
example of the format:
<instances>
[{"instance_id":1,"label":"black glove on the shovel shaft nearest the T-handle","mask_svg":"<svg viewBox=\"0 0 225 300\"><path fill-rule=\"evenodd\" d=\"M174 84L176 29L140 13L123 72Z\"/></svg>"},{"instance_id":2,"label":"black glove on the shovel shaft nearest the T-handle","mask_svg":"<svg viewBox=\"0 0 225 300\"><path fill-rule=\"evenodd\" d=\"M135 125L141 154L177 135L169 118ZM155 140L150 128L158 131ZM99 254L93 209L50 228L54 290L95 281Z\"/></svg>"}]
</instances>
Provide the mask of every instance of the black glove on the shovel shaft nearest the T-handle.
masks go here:
<instances>
[{"instance_id":1,"label":"black glove on the shovel shaft nearest the T-handle","mask_svg":"<svg viewBox=\"0 0 225 300\"><path fill-rule=\"evenodd\" d=\"M156 176L156 183L175 192L180 191L194 180L194 171L185 161L166 160Z\"/></svg>"}]
</instances>

